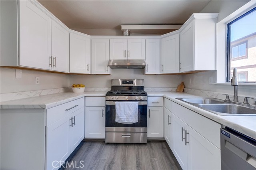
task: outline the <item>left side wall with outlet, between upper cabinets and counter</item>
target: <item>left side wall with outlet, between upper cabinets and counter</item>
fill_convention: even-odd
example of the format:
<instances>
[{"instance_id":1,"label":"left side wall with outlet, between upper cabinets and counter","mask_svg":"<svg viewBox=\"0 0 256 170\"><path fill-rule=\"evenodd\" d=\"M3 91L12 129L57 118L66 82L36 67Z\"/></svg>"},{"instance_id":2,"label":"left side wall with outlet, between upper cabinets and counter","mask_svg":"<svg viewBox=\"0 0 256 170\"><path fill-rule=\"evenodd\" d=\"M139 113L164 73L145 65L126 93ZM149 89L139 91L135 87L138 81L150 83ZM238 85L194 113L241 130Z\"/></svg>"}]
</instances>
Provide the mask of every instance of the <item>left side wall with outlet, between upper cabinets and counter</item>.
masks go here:
<instances>
[{"instance_id":1,"label":"left side wall with outlet, between upper cabinets and counter","mask_svg":"<svg viewBox=\"0 0 256 170\"><path fill-rule=\"evenodd\" d=\"M0 68L0 93L55 89L69 86L70 75L22 70L22 78L15 78L16 69ZM35 78L40 77L40 84Z\"/></svg>"}]
</instances>

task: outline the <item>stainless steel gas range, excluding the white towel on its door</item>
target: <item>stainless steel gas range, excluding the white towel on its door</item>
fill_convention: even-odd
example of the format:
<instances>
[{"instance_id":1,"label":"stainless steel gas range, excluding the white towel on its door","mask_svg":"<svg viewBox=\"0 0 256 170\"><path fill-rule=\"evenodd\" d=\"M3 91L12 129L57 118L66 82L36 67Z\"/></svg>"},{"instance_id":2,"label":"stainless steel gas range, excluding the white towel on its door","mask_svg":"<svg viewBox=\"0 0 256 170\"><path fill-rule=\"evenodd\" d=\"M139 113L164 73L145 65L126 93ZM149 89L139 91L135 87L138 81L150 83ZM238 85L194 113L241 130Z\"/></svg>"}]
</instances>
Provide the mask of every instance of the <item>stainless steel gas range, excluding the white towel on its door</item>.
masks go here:
<instances>
[{"instance_id":1,"label":"stainless steel gas range, excluding the white towel on its door","mask_svg":"<svg viewBox=\"0 0 256 170\"><path fill-rule=\"evenodd\" d=\"M116 102L138 102L138 122L116 122ZM112 79L111 90L106 93L105 142L146 143L147 105L143 79Z\"/></svg>"}]
</instances>

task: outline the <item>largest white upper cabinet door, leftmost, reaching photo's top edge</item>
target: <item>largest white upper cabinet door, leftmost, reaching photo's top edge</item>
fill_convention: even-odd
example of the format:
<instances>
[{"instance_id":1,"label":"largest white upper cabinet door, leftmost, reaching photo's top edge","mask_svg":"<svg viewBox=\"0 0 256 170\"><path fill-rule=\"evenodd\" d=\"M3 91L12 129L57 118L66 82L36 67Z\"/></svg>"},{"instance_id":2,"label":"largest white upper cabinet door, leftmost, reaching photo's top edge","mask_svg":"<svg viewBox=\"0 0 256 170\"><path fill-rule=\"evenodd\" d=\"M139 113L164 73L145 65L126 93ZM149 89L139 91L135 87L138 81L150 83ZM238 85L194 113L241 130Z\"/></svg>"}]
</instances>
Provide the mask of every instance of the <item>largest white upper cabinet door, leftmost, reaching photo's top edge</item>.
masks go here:
<instances>
[{"instance_id":1,"label":"largest white upper cabinet door, leftmost, reaching photo's top edge","mask_svg":"<svg viewBox=\"0 0 256 170\"><path fill-rule=\"evenodd\" d=\"M51 19L30 1L18 1L20 24L19 65L50 69Z\"/></svg>"}]
</instances>

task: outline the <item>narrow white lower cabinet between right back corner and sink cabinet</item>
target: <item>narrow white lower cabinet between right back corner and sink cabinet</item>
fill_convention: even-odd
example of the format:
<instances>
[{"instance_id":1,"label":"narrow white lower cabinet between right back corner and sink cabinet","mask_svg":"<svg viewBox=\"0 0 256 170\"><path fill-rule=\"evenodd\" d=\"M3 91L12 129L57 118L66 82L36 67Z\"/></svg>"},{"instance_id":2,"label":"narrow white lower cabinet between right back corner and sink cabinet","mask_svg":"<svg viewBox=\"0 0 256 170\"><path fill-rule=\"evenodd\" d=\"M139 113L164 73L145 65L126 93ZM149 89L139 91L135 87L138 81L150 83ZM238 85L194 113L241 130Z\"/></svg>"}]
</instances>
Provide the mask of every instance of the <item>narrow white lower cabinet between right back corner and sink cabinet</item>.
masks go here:
<instances>
[{"instance_id":1,"label":"narrow white lower cabinet between right back corner and sink cabinet","mask_svg":"<svg viewBox=\"0 0 256 170\"><path fill-rule=\"evenodd\" d=\"M173 149L172 142L172 101L164 98L164 139L167 144Z\"/></svg>"}]
</instances>

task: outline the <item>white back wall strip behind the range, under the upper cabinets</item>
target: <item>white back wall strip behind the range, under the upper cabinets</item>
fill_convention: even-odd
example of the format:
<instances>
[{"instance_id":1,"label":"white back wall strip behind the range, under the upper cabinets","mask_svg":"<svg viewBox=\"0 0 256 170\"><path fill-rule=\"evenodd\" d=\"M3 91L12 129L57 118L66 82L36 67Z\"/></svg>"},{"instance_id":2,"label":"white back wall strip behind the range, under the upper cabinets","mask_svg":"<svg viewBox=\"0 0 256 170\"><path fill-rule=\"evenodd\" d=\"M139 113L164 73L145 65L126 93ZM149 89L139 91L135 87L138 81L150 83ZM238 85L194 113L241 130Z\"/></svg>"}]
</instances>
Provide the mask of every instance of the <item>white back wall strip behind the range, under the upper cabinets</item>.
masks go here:
<instances>
[{"instance_id":1,"label":"white back wall strip behind the range, under the upper cabinets","mask_svg":"<svg viewBox=\"0 0 256 170\"><path fill-rule=\"evenodd\" d=\"M143 69L112 69L112 75L70 75L72 84L86 87L111 87L111 79L144 79L144 87L177 87L181 75L143 75Z\"/></svg>"}]
</instances>

